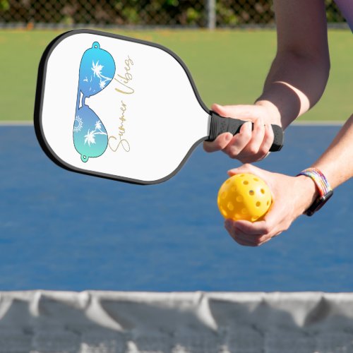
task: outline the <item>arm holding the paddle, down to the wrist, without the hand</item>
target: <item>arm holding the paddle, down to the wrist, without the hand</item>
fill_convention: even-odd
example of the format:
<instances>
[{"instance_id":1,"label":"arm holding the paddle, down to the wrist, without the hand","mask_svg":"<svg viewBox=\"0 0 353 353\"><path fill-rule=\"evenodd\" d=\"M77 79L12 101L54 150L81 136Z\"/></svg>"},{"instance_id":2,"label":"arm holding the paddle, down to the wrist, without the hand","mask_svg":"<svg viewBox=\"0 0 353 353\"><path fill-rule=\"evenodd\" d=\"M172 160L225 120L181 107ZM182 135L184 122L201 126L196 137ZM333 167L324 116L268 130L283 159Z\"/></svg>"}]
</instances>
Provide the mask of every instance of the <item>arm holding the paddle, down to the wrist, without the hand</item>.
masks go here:
<instances>
[{"instance_id":1,"label":"arm holding the paddle, down to the wrist, without the hand","mask_svg":"<svg viewBox=\"0 0 353 353\"><path fill-rule=\"evenodd\" d=\"M272 107L286 128L325 90L330 70L325 6L323 0L275 0L274 6L277 54L256 104Z\"/></svg>"}]
</instances>

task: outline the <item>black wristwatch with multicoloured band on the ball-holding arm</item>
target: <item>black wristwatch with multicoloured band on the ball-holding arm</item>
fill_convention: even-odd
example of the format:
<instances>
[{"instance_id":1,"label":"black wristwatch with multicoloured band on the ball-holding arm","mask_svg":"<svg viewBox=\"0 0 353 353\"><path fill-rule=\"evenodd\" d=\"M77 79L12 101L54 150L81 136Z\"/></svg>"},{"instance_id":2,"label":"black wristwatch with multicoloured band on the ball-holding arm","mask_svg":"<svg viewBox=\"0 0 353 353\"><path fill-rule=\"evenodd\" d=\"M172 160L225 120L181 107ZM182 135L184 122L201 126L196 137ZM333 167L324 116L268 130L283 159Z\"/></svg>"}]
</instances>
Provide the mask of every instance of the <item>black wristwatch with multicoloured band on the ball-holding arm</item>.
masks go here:
<instances>
[{"instance_id":1,"label":"black wristwatch with multicoloured band on the ball-holding arm","mask_svg":"<svg viewBox=\"0 0 353 353\"><path fill-rule=\"evenodd\" d=\"M297 177L299 175L305 175L311 178L316 185L316 189L318 189L318 198L316 198L312 205L304 212L304 215L312 216L328 202L331 196L333 196L333 189L330 187L330 184L328 184L328 179L326 179L325 175L316 168L304 169Z\"/></svg>"}]
</instances>

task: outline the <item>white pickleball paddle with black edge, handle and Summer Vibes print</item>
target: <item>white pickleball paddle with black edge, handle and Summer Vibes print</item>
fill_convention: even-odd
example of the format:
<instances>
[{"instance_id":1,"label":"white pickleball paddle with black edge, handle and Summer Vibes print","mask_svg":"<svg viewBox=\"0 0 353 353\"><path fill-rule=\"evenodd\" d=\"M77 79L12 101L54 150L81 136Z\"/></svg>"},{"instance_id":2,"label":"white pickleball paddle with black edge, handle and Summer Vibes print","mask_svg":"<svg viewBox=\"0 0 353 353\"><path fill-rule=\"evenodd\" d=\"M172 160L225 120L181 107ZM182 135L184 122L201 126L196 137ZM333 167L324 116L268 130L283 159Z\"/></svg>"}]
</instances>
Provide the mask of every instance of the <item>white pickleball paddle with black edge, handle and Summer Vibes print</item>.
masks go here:
<instances>
[{"instance_id":1,"label":"white pickleball paddle with black edge, handle and Summer Vibes print","mask_svg":"<svg viewBox=\"0 0 353 353\"><path fill-rule=\"evenodd\" d=\"M159 44L95 30L56 37L40 61L35 131L61 167L137 184L172 177L192 150L245 121L202 102L179 57ZM282 147L273 125L271 151Z\"/></svg>"}]
</instances>

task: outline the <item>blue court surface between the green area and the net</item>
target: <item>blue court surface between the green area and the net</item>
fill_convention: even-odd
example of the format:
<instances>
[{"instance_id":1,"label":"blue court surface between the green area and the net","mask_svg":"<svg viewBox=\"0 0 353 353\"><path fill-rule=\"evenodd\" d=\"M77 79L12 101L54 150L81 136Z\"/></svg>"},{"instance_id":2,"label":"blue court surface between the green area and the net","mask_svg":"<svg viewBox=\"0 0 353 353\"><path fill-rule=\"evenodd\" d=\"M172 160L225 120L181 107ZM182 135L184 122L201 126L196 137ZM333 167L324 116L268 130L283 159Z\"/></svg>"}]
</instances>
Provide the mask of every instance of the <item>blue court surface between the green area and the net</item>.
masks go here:
<instances>
[{"instance_id":1,"label":"blue court surface between the green area and the net","mask_svg":"<svg viewBox=\"0 0 353 353\"><path fill-rule=\"evenodd\" d=\"M292 126L285 148L257 165L295 175L339 128ZM222 152L200 146L154 186L61 169L32 126L1 126L0 155L0 290L353 291L352 180L313 217L247 248L217 209L239 166Z\"/></svg>"}]
</instances>

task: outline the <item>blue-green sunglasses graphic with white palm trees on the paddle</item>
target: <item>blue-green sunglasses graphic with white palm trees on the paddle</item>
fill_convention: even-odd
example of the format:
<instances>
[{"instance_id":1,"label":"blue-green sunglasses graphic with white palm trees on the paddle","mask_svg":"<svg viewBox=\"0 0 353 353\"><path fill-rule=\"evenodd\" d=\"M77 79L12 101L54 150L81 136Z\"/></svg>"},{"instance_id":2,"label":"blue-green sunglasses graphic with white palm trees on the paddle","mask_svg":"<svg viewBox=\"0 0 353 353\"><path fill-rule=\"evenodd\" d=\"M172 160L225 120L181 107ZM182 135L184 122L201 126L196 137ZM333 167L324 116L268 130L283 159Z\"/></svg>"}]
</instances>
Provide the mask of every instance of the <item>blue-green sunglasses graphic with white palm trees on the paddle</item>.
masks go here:
<instances>
[{"instance_id":1,"label":"blue-green sunglasses graphic with white palm trees on the paddle","mask_svg":"<svg viewBox=\"0 0 353 353\"><path fill-rule=\"evenodd\" d=\"M115 63L109 52L93 42L82 56L79 70L76 114L73 123L73 144L82 162L100 157L107 149L107 130L85 99L104 90L114 78Z\"/></svg>"}]
</instances>

